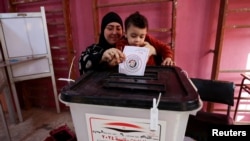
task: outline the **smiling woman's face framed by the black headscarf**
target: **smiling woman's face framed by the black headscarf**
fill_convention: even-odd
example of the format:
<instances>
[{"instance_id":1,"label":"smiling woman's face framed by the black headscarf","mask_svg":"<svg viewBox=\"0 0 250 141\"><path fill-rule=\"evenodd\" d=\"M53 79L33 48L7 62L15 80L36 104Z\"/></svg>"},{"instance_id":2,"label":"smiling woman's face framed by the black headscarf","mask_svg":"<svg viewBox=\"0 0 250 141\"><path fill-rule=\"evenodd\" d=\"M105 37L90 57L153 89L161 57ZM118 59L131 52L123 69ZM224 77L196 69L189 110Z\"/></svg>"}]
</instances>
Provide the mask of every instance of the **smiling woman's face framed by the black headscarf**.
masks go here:
<instances>
[{"instance_id":1,"label":"smiling woman's face framed by the black headscarf","mask_svg":"<svg viewBox=\"0 0 250 141\"><path fill-rule=\"evenodd\" d=\"M122 26L117 22L109 23L104 29L104 37L111 45L121 39L123 34Z\"/></svg>"}]
</instances>

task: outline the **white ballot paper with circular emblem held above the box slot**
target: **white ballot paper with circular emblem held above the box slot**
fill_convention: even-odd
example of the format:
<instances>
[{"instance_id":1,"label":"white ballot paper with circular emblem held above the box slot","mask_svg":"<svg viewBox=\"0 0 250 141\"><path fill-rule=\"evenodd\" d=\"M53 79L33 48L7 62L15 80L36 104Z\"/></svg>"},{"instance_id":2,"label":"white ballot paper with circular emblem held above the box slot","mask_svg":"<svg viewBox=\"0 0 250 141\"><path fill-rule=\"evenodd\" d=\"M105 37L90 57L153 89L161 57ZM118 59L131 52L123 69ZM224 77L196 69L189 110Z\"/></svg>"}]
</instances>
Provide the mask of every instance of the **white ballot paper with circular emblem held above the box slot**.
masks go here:
<instances>
[{"instance_id":1,"label":"white ballot paper with circular emblem held above the box slot","mask_svg":"<svg viewBox=\"0 0 250 141\"><path fill-rule=\"evenodd\" d=\"M149 49L146 47L125 46L126 60L119 64L119 73L143 76L148 61Z\"/></svg>"}]
</instances>

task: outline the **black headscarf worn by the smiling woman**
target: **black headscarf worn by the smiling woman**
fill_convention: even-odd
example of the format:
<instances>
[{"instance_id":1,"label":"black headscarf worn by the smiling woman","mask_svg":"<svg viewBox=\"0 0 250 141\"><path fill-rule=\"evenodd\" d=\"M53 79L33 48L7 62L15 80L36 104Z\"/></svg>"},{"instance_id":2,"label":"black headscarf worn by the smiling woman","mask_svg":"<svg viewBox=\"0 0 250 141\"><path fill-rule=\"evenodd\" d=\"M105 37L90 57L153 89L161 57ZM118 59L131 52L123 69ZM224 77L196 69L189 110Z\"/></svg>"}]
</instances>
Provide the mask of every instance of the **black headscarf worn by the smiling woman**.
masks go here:
<instances>
[{"instance_id":1,"label":"black headscarf worn by the smiling woman","mask_svg":"<svg viewBox=\"0 0 250 141\"><path fill-rule=\"evenodd\" d=\"M104 50L114 47L114 45L111 45L107 42L107 40L104 37L104 29L106 26L111 22L117 22L123 27L122 19L121 17L116 14L115 12L109 12L102 18L102 24L101 24L101 34L99 37L99 43L98 45L103 47Z\"/></svg>"}]
</instances>

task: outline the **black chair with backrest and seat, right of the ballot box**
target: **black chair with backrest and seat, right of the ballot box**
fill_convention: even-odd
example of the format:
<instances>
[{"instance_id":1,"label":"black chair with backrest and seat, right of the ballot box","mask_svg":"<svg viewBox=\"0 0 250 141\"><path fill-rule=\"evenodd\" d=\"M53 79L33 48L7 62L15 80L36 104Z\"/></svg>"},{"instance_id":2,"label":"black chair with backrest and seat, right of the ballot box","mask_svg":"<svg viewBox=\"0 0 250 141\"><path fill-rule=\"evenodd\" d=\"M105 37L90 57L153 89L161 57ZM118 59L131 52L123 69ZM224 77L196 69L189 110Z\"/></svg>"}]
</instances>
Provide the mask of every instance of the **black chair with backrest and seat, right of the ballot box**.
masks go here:
<instances>
[{"instance_id":1,"label":"black chair with backrest and seat, right of the ballot box","mask_svg":"<svg viewBox=\"0 0 250 141\"><path fill-rule=\"evenodd\" d=\"M199 78L192 78L191 80L197 87L202 101L227 105L225 114L200 110L196 115L189 116L185 135L197 141L206 141L210 136L210 129L213 125L234 124L233 118L230 117L230 109L234 104L235 85L228 81Z\"/></svg>"}]
</instances>

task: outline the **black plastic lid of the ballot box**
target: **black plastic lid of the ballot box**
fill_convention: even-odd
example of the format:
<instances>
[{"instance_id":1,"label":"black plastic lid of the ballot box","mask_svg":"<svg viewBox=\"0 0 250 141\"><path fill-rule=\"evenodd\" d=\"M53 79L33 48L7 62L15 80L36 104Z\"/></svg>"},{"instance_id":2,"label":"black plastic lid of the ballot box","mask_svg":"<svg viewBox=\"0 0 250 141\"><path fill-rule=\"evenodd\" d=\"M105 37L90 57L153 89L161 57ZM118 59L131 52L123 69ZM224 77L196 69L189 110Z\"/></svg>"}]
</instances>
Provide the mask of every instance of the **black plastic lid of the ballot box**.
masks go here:
<instances>
[{"instance_id":1,"label":"black plastic lid of the ballot box","mask_svg":"<svg viewBox=\"0 0 250 141\"><path fill-rule=\"evenodd\" d=\"M61 100L106 106L149 109L153 98L159 110L189 111L199 107L198 93L179 67L147 66L144 76L128 76L118 69L92 71L63 87Z\"/></svg>"}]
</instances>

